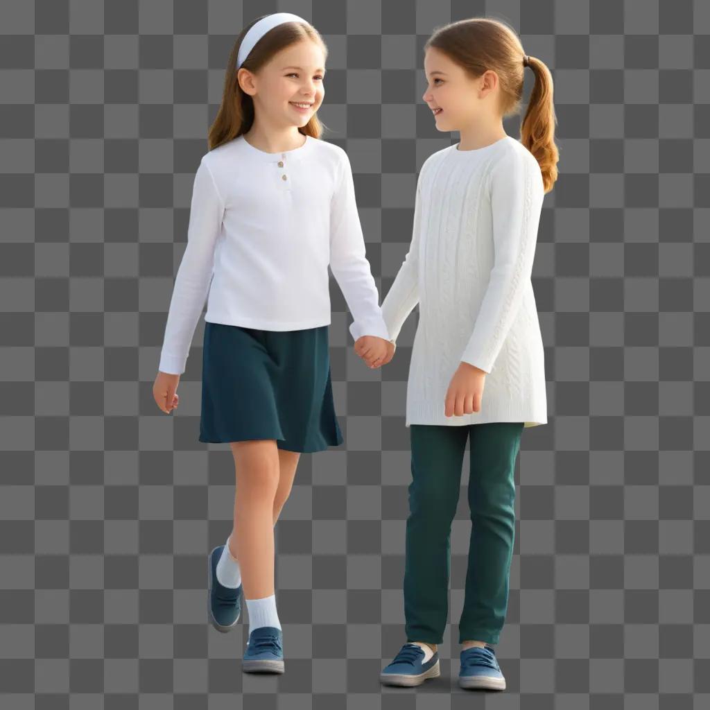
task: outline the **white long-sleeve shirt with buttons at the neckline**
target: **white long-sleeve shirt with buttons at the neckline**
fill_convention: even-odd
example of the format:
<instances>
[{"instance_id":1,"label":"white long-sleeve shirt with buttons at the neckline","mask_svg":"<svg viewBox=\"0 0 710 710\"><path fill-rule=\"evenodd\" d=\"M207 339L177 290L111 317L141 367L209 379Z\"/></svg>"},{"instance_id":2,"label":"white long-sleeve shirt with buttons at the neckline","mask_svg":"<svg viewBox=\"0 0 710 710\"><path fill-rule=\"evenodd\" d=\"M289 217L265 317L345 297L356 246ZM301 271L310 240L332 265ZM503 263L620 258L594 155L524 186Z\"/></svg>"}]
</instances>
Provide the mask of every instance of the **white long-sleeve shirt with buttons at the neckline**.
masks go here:
<instances>
[{"instance_id":1,"label":"white long-sleeve shirt with buttons at the neckline","mask_svg":"<svg viewBox=\"0 0 710 710\"><path fill-rule=\"evenodd\" d=\"M195 174L158 369L185 371L205 298L209 322L278 331L329 324L328 266L354 339L388 338L342 148L307 136L299 148L266 153L239 136L209 151Z\"/></svg>"}]
</instances>

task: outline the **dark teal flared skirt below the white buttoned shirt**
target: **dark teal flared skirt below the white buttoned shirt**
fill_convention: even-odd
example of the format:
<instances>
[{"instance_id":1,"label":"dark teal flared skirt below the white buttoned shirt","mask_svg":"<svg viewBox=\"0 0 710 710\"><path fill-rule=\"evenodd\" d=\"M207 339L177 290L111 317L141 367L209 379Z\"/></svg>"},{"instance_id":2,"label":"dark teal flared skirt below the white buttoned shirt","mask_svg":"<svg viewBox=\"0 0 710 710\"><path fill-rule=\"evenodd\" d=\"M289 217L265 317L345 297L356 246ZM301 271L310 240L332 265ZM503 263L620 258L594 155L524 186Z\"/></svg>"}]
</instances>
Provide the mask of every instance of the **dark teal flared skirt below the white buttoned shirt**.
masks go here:
<instances>
[{"instance_id":1,"label":"dark teal flared skirt below the white buttoned shirt","mask_svg":"<svg viewBox=\"0 0 710 710\"><path fill-rule=\"evenodd\" d=\"M200 441L276 439L310 453L339 446L327 325L260 330L206 321Z\"/></svg>"}]
</instances>

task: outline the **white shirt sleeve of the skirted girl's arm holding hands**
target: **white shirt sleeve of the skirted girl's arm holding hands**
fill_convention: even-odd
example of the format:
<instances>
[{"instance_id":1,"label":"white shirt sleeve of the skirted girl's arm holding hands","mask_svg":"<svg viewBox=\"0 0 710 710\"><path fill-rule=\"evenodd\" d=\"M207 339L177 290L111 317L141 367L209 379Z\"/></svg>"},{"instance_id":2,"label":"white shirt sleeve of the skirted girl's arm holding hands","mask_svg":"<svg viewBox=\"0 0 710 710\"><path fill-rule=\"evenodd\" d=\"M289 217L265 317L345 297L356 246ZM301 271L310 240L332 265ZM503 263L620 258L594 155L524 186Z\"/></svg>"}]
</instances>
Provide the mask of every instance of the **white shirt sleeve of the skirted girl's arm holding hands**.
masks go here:
<instances>
[{"instance_id":1,"label":"white shirt sleeve of the skirted girl's arm holding hands","mask_svg":"<svg viewBox=\"0 0 710 710\"><path fill-rule=\"evenodd\" d=\"M330 268L353 316L352 337L388 339L375 279L366 258L365 240L355 200L350 159L345 151L330 210Z\"/></svg>"}]
</instances>

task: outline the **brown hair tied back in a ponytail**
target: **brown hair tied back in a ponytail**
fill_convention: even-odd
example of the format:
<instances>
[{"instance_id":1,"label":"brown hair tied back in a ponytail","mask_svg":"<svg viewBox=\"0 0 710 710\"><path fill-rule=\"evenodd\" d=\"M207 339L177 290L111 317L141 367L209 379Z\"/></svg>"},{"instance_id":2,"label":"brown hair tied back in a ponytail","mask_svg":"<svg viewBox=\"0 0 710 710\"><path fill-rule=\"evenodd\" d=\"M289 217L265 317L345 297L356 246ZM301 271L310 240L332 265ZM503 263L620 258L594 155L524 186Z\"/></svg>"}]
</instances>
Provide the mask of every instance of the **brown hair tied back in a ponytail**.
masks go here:
<instances>
[{"instance_id":1,"label":"brown hair tied back in a ponytail","mask_svg":"<svg viewBox=\"0 0 710 710\"><path fill-rule=\"evenodd\" d=\"M446 54L474 78L493 70L501 84L501 114L517 114L523 99L525 52L513 28L494 18L469 18L437 28L424 50L433 47ZM535 76L528 110L520 126L520 143L540 163L545 192L557 180L559 152L555 145L555 104L552 102L552 74L545 62L528 56Z\"/></svg>"}]
</instances>

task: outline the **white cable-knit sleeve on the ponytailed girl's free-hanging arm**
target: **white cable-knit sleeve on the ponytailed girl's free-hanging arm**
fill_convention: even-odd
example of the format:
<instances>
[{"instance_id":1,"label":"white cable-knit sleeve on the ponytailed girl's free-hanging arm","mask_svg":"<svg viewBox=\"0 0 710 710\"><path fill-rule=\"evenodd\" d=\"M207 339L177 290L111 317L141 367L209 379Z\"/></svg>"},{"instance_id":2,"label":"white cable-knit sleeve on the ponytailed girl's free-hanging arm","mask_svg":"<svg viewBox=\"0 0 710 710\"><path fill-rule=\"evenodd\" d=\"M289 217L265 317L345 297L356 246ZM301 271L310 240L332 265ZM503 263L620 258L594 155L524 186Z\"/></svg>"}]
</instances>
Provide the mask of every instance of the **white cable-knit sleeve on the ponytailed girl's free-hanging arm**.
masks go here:
<instances>
[{"instance_id":1,"label":"white cable-knit sleeve on the ponytailed girl's free-hanging arm","mask_svg":"<svg viewBox=\"0 0 710 710\"><path fill-rule=\"evenodd\" d=\"M511 151L491 170L493 268L461 361L490 372L532 275L545 190L537 162Z\"/></svg>"}]
</instances>

